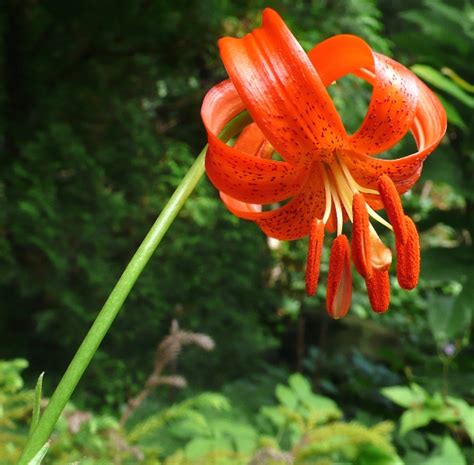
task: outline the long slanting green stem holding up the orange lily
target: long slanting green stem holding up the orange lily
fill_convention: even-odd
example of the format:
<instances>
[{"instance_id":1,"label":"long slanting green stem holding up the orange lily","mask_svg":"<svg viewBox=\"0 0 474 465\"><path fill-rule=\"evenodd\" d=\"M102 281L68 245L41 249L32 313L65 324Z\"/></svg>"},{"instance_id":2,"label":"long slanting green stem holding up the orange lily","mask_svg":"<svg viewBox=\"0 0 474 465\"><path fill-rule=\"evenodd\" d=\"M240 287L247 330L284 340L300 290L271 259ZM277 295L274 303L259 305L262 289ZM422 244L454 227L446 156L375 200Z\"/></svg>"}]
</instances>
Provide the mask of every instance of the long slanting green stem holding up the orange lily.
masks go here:
<instances>
[{"instance_id":1,"label":"long slanting green stem holding up the orange lily","mask_svg":"<svg viewBox=\"0 0 474 465\"><path fill-rule=\"evenodd\" d=\"M250 122L247 112L235 117L219 134L220 139L227 141L236 135ZM97 315L93 325L82 341L76 355L64 373L56 390L41 416L37 427L28 438L18 465L26 465L48 440L66 403L88 367L92 357L107 334L112 322L120 311L125 299L132 290L136 280L168 231L177 214L196 187L204 173L204 158L207 146L197 157L186 176L168 200L157 220L151 227L135 255L110 293L107 301Z\"/></svg>"}]
</instances>

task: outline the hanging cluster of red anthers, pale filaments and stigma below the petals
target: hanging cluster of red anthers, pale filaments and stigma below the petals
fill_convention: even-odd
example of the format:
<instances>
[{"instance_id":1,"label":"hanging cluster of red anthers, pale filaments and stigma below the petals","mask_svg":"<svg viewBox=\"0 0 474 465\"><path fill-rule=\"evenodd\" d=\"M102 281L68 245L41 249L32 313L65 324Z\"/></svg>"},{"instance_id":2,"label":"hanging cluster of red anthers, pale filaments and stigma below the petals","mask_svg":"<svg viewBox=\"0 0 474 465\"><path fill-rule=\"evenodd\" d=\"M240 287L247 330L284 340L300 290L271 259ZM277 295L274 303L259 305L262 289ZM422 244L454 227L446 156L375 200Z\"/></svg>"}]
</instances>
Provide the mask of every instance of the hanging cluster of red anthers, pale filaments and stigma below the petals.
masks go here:
<instances>
[{"instance_id":1,"label":"hanging cluster of red anthers, pale filaments and stigma below the petals","mask_svg":"<svg viewBox=\"0 0 474 465\"><path fill-rule=\"evenodd\" d=\"M352 297L351 262L365 280L372 310L384 313L390 305L392 251L381 240L374 223L394 234L397 280L402 289L408 290L416 287L420 272L416 226L405 215L397 188L386 174L378 178L377 189L371 189L356 182L338 155L330 162L319 162L319 165L324 182L325 208L321 218L313 219L309 231L306 292L311 296L317 290L325 231L335 232L327 278L328 314L338 319L349 311ZM375 211L374 208L380 205L387 219ZM350 242L343 228L347 221L352 225Z\"/></svg>"}]
</instances>

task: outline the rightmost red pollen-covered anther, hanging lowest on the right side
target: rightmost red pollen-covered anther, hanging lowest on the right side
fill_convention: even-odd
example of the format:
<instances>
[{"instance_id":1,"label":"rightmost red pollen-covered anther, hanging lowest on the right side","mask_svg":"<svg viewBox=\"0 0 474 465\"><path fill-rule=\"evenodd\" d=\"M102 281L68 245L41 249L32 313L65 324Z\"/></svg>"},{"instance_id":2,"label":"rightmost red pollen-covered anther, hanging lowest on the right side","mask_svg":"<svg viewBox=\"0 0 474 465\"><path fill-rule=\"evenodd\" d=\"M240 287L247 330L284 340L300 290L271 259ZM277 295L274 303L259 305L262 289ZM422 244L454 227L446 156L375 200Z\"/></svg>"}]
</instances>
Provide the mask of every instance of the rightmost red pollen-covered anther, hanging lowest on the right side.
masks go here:
<instances>
[{"instance_id":1,"label":"rightmost red pollen-covered anther, hanging lowest on the right side","mask_svg":"<svg viewBox=\"0 0 474 465\"><path fill-rule=\"evenodd\" d=\"M413 220L405 216L407 241L395 241L397 247L397 280L402 289L411 290L420 276L420 238Z\"/></svg>"}]
</instances>

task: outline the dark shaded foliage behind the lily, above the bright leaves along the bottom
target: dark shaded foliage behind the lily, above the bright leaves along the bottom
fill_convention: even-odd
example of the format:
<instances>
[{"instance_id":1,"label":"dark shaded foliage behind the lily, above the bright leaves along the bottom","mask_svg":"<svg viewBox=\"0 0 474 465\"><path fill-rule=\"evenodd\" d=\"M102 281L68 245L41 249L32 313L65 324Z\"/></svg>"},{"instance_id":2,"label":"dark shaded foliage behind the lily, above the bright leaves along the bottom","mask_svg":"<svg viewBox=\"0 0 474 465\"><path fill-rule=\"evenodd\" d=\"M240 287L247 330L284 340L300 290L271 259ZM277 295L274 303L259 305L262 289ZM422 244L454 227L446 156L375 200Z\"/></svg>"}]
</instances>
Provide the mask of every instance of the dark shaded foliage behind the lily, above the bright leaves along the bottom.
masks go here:
<instances>
[{"instance_id":1,"label":"dark shaded foliage behind the lily, above the bright leaves along the bottom","mask_svg":"<svg viewBox=\"0 0 474 465\"><path fill-rule=\"evenodd\" d=\"M334 34L360 35L413 66L443 99L447 136L404 199L421 232L420 286L407 293L393 282L391 311L374 316L356 280L351 316L330 321L327 250L322 285L307 298L305 241L270 249L258 228L230 215L203 180L114 323L75 403L101 415L117 412L141 389L154 347L177 318L216 342L211 355L189 351L179 359L174 369L190 385L182 398L220 390L234 408L252 411L298 370L348 419L367 425L400 416L379 394L393 384L418 383L472 404L474 6L461 0L6 0L0 358L28 359L31 386L45 370L51 393L205 143L200 104L225 78L217 39L257 26L264 6L276 8L307 49ZM331 93L347 126L356 128L370 89L344 78ZM407 140L395 155L411 147ZM157 398L168 405L176 395L165 389ZM427 431L441 434L436 426ZM462 427L448 432L467 450ZM426 447L427 454L435 446Z\"/></svg>"}]
</instances>

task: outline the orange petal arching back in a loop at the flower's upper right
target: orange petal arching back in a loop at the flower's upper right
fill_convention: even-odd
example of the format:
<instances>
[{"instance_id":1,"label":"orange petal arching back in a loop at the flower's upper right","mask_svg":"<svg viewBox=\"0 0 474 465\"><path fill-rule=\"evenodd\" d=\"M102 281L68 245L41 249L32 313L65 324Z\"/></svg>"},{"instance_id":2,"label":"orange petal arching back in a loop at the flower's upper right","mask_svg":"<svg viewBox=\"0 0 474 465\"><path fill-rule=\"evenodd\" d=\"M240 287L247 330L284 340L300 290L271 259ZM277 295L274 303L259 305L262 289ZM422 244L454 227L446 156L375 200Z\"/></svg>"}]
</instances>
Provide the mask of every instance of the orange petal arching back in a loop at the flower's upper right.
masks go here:
<instances>
[{"instance_id":1,"label":"orange petal arching back in a loop at the flower's upper right","mask_svg":"<svg viewBox=\"0 0 474 465\"><path fill-rule=\"evenodd\" d=\"M355 73L373 85L364 121L349 138L354 150L374 155L403 138L412 125L417 105L417 78L412 72L373 52L367 43L352 35L337 35L321 42L309 57L325 85L347 73Z\"/></svg>"}]
</instances>

